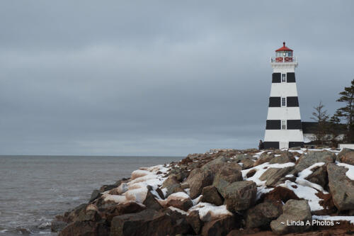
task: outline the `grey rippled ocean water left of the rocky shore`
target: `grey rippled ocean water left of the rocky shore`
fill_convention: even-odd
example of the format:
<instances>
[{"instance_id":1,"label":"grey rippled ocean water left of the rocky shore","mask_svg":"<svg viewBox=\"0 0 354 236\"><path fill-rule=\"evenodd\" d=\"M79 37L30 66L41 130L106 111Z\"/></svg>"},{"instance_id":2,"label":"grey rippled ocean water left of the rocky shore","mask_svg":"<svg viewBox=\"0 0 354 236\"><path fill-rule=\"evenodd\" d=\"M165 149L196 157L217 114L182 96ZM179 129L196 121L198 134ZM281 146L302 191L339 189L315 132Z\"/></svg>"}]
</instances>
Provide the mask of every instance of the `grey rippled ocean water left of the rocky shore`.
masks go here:
<instances>
[{"instance_id":1,"label":"grey rippled ocean water left of the rocky shore","mask_svg":"<svg viewBox=\"0 0 354 236\"><path fill-rule=\"evenodd\" d=\"M0 156L0 235L56 235L55 215L139 167L182 157Z\"/></svg>"}]
</instances>

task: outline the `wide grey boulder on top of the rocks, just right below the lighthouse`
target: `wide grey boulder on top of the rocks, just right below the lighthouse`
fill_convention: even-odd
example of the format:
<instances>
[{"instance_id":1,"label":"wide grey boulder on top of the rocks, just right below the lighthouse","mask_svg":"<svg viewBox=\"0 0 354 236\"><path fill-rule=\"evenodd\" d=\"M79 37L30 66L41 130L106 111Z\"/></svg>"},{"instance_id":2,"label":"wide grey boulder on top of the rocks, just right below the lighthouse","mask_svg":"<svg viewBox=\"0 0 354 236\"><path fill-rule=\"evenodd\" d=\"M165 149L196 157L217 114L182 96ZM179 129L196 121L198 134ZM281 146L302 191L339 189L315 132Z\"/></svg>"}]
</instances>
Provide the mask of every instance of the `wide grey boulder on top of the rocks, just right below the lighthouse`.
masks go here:
<instances>
[{"instance_id":1,"label":"wide grey boulder on top of the rocks, just right below the lighthouse","mask_svg":"<svg viewBox=\"0 0 354 236\"><path fill-rule=\"evenodd\" d=\"M317 162L333 163L336 160L336 154L333 152L329 152L327 150L323 151L309 151L304 153L297 160L297 164L295 165L296 172L301 172L307 167L312 166Z\"/></svg>"}]
</instances>

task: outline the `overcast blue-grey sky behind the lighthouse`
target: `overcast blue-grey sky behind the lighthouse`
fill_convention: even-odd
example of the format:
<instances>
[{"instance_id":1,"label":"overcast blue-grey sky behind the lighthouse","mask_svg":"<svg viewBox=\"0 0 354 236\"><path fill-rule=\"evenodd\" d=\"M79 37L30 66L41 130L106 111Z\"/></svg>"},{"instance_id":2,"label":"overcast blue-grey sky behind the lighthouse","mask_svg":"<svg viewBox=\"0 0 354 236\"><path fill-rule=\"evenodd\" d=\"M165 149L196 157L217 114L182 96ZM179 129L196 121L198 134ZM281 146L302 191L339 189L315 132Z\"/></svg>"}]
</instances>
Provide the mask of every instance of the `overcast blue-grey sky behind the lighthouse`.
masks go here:
<instances>
[{"instance_id":1,"label":"overcast blue-grey sky behind the lighthouse","mask_svg":"<svg viewBox=\"0 0 354 236\"><path fill-rule=\"evenodd\" d=\"M256 147L270 57L302 120L354 79L353 1L1 1L0 154Z\"/></svg>"}]
</instances>

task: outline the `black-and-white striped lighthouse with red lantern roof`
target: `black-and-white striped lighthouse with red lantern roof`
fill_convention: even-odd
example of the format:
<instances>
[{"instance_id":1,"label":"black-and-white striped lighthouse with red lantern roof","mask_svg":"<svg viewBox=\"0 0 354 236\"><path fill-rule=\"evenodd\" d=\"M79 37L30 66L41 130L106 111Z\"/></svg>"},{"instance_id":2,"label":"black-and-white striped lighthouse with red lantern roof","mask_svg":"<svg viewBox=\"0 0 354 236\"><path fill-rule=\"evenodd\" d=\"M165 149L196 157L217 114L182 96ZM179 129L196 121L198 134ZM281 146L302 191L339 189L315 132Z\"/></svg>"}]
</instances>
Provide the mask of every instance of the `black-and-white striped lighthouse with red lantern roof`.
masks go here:
<instances>
[{"instance_id":1,"label":"black-and-white striped lighthouse with red lantern roof","mask_svg":"<svg viewBox=\"0 0 354 236\"><path fill-rule=\"evenodd\" d=\"M304 137L295 79L297 58L293 50L283 43L282 47L275 50L275 57L271 57L270 64L273 74L264 147L302 147Z\"/></svg>"}]
</instances>

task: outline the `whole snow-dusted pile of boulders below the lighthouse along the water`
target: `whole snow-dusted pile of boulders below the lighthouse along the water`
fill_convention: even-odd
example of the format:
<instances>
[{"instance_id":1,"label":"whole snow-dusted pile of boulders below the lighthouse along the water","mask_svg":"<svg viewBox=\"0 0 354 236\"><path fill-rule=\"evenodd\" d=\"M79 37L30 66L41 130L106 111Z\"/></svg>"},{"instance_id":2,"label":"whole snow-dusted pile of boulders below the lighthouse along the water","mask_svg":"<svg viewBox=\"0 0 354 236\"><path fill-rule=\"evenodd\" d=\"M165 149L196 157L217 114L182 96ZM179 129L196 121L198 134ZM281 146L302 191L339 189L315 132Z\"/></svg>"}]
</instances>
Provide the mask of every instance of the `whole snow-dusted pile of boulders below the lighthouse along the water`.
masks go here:
<instances>
[{"instance_id":1,"label":"whole snow-dusted pile of boulders below the lighthouse along the water","mask_svg":"<svg viewBox=\"0 0 354 236\"><path fill-rule=\"evenodd\" d=\"M354 233L354 151L219 150L142 167L52 222L69 235ZM265 232L265 231L273 232Z\"/></svg>"}]
</instances>

